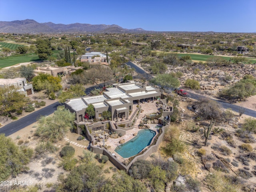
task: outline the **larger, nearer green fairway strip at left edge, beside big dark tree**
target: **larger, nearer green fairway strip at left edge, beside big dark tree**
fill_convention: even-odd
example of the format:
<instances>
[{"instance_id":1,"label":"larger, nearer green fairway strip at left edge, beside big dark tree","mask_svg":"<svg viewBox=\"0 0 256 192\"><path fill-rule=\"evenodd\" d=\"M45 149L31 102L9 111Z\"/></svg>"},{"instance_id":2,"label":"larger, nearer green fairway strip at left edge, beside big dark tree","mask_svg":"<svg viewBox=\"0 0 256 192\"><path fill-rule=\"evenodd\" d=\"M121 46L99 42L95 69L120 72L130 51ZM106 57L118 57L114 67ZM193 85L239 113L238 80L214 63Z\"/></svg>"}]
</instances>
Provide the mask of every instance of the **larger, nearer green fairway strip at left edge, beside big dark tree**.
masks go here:
<instances>
[{"instance_id":1,"label":"larger, nearer green fairway strip at left edge, beside big dark tree","mask_svg":"<svg viewBox=\"0 0 256 192\"><path fill-rule=\"evenodd\" d=\"M0 68L16 65L18 63L40 61L37 54L18 54L9 57L0 58Z\"/></svg>"}]
</instances>

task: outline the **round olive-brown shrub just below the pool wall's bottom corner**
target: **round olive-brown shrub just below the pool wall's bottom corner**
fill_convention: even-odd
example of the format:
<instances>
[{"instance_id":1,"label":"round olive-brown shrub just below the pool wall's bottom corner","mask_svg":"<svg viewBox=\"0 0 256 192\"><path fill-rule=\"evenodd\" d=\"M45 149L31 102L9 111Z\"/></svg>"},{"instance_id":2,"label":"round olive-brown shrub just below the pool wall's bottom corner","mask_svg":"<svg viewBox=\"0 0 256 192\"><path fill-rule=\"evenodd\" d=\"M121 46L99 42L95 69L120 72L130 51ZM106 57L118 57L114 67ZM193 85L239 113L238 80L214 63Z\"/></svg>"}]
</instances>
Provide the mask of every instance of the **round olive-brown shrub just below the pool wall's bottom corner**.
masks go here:
<instances>
[{"instance_id":1,"label":"round olive-brown shrub just below the pool wall's bottom corner","mask_svg":"<svg viewBox=\"0 0 256 192\"><path fill-rule=\"evenodd\" d=\"M150 164L150 162L146 160L137 160L130 167L129 174L134 179L145 179L148 178L151 169L152 165Z\"/></svg>"}]
</instances>

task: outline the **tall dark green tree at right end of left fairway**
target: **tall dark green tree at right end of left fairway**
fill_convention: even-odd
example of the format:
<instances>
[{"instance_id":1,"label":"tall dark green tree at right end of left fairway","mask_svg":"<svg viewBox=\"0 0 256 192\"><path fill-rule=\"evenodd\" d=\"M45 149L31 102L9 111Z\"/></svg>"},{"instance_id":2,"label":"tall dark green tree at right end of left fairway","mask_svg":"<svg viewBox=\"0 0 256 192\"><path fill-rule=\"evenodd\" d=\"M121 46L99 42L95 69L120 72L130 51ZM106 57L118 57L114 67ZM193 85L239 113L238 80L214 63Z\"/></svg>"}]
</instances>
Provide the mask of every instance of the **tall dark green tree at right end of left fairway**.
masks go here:
<instances>
[{"instance_id":1,"label":"tall dark green tree at right end of left fairway","mask_svg":"<svg viewBox=\"0 0 256 192\"><path fill-rule=\"evenodd\" d=\"M51 43L49 40L38 39L36 40L36 52L38 57L43 61L52 54Z\"/></svg>"}]
</instances>

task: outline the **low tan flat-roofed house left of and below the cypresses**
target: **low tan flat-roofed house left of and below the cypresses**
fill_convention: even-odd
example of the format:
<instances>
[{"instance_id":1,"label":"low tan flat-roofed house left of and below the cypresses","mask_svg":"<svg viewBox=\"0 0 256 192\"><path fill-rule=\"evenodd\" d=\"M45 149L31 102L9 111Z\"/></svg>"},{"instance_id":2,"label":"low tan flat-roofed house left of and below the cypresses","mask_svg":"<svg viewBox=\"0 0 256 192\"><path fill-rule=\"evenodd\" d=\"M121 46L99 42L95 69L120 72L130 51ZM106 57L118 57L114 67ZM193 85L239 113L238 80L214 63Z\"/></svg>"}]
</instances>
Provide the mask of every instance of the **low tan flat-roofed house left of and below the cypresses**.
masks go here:
<instances>
[{"instance_id":1,"label":"low tan flat-roofed house left of and below the cypresses","mask_svg":"<svg viewBox=\"0 0 256 192\"><path fill-rule=\"evenodd\" d=\"M78 69L83 68L82 66L65 66L65 67L36 67L34 70L35 75L37 76L40 73L50 74L54 77L58 76L70 76L70 74Z\"/></svg>"}]
</instances>

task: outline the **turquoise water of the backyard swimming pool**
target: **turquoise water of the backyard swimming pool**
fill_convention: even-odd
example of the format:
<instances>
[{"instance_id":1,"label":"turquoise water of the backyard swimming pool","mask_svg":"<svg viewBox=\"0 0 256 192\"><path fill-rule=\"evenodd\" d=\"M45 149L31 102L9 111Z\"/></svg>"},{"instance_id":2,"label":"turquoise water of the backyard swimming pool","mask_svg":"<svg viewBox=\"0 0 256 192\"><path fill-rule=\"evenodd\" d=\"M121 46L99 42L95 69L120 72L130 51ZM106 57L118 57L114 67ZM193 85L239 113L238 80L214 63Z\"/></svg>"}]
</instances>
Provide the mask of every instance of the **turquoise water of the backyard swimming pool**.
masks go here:
<instances>
[{"instance_id":1,"label":"turquoise water of the backyard swimming pool","mask_svg":"<svg viewBox=\"0 0 256 192\"><path fill-rule=\"evenodd\" d=\"M117 146L115 152L117 152L123 158L134 156L146 146L149 146L155 135L155 131L149 129L140 130L136 137L124 144Z\"/></svg>"}]
</instances>

